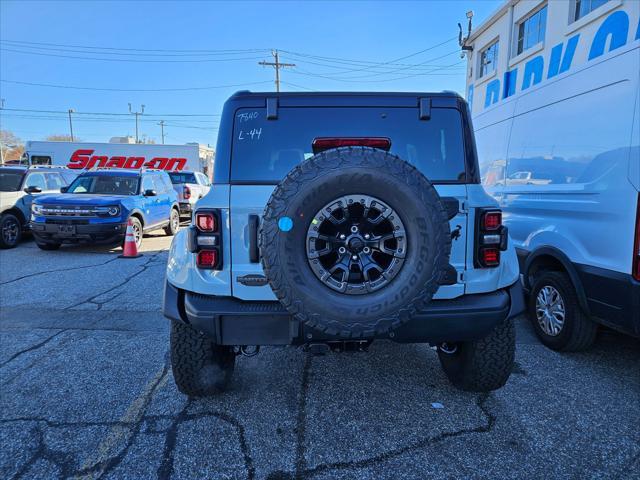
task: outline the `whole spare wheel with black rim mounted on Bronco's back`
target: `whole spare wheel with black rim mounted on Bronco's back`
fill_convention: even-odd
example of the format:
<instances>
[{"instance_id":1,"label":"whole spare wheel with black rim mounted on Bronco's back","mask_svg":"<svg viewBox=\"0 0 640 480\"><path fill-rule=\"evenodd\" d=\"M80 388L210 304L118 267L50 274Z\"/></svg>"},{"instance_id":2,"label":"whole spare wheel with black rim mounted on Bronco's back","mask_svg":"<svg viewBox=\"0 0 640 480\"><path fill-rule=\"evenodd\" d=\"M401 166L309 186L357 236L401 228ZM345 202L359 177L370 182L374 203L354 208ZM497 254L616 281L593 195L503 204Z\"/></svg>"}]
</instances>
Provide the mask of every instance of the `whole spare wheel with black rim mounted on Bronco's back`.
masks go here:
<instances>
[{"instance_id":1,"label":"whole spare wheel with black rim mounted on Bronco's back","mask_svg":"<svg viewBox=\"0 0 640 480\"><path fill-rule=\"evenodd\" d=\"M285 308L340 338L408 322L439 287L451 234L433 185L401 158L368 147L319 153L267 203L262 265Z\"/></svg>"}]
</instances>

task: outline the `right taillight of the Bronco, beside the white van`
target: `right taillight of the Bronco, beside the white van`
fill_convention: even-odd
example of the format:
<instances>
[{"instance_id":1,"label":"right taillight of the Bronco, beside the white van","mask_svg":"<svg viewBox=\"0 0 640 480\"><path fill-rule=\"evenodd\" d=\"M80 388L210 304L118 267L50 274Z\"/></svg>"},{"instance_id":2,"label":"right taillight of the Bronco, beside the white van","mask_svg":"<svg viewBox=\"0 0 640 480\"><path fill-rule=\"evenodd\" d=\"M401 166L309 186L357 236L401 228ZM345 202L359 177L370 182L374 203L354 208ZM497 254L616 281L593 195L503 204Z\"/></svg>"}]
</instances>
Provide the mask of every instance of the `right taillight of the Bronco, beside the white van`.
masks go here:
<instances>
[{"instance_id":1,"label":"right taillight of the Bronco, beside the white van","mask_svg":"<svg viewBox=\"0 0 640 480\"><path fill-rule=\"evenodd\" d=\"M508 238L507 227L502 225L502 212L479 209L476 221L475 266L499 266L500 252L507 249Z\"/></svg>"}]
</instances>

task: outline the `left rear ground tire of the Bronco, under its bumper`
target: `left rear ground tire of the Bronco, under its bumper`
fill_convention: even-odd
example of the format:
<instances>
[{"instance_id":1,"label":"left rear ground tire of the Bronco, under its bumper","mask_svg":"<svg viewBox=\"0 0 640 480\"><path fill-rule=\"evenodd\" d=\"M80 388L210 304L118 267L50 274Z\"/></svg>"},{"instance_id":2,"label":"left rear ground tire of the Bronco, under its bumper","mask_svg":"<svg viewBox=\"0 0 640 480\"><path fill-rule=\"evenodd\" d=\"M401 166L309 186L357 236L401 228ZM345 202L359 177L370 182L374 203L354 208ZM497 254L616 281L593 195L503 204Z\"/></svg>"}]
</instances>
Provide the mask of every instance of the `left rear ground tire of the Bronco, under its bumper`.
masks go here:
<instances>
[{"instance_id":1,"label":"left rear ground tire of the Bronco, under its bumper","mask_svg":"<svg viewBox=\"0 0 640 480\"><path fill-rule=\"evenodd\" d=\"M171 322L171 369L178 390L192 397L225 390L236 361L232 347L216 345L191 325Z\"/></svg>"}]
</instances>

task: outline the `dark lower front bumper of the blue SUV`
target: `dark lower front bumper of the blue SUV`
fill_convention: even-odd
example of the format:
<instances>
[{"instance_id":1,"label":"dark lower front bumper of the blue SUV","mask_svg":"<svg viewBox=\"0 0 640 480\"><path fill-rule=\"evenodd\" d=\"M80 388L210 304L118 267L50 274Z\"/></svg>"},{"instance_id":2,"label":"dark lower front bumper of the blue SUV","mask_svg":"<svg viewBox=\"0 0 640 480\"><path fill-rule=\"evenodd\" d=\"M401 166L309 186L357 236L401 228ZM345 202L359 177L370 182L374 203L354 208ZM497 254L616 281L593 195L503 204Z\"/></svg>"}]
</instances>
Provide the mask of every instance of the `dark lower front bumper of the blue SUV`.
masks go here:
<instances>
[{"instance_id":1,"label":"dark lower front bumper of the blue SUV","mask_svg":"<svg viewBox=\"0 0 640 480\"><path fill-rule=\"evenodd\" d=\"M121 243L127 230L126 223L69 224L72 234L60 232L61 224L31 222L31 231L43 243Z\"/></svg>"}]
</instances>

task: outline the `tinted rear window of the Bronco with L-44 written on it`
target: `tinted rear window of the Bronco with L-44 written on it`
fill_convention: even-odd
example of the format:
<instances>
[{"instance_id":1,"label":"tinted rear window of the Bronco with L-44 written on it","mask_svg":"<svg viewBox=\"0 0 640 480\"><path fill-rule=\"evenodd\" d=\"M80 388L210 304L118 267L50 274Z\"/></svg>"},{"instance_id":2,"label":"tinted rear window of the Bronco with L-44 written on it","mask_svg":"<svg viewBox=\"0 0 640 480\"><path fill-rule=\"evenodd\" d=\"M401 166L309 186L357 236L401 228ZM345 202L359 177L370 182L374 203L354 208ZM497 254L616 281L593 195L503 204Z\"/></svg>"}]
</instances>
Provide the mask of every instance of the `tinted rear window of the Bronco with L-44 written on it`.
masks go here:
<instances>
[{"instance_id":1,"label":"tinted rear window of the Bronco with L-44 written on it","mask_svg":"<svg viewBox=\"0 0 640 480\"><path fill-rule=\"evenodd\" d=\"M415 165L432 182L465 178L462 118L453 108L433 108L420 120L417 108L280 108L236 111L231 182L277 183L313 155L318 137L386 137L391 153Z\"/></svg>"}]
</instances>

